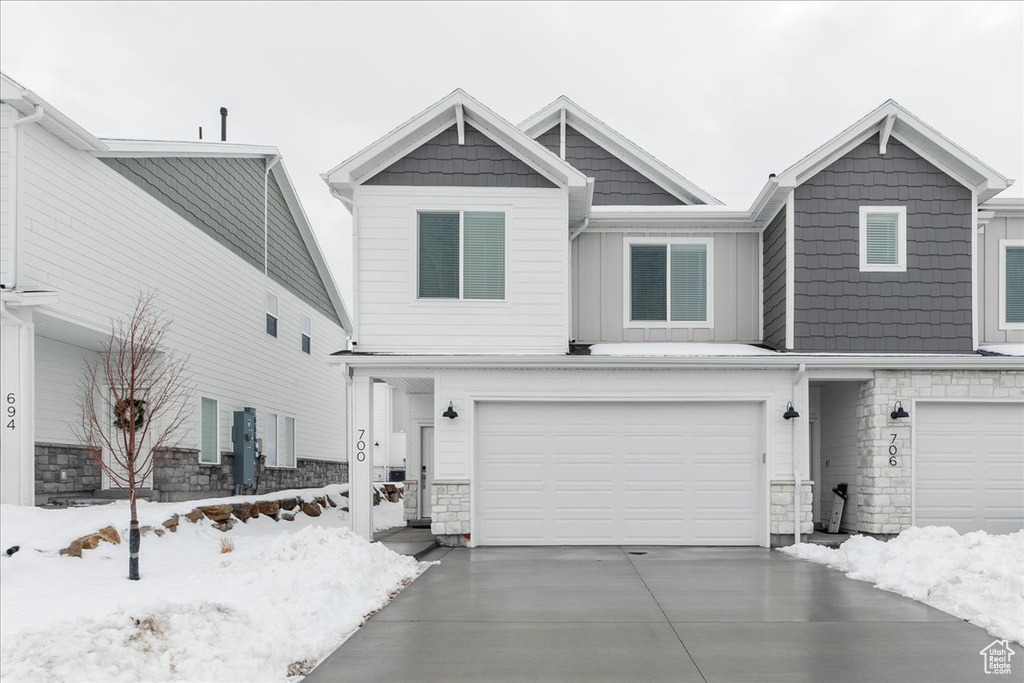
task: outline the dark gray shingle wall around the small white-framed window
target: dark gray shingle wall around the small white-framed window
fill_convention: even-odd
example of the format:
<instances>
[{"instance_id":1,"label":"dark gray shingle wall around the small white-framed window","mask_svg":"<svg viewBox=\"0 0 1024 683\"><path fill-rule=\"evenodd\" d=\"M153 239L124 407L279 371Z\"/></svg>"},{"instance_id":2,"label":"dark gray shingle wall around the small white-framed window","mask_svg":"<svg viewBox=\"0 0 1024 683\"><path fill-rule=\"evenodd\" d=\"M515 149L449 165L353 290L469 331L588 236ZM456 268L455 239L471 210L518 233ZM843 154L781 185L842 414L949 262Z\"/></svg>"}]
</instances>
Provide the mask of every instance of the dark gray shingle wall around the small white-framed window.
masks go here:
<instances>
[{"instance_id":1,"label":"dark gray shingle wall around the small white-framed window","mask_svg":"<svg viewBox=\"0 0 1024 683\"><path fill-rule=\"evenodd\" d=\"M861 272L861 206L906 207L906 272ZM895 138L878 137L795 196L796 350L966 352L971 190ZM765 311L767 318L767 310Z\"/></svg>"}]
</instances>

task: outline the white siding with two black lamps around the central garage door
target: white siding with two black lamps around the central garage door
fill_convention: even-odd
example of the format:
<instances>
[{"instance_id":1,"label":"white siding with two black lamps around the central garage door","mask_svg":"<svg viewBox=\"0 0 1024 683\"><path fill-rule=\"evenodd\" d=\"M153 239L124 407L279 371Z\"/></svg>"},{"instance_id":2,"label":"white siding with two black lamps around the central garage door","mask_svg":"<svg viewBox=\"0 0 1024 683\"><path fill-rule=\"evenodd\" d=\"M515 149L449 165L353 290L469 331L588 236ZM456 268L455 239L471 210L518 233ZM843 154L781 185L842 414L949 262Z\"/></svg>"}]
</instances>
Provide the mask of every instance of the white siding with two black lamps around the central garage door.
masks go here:
<instances>
[{"instance_id":1,"label":"white siding with two black lamps around the central garage door","mask_svg":"<svg viewBox=\"0 0 1024 683\"><path fill-rule=\"evenodd\" d=\"M579 400L743 400L767 401L767 476L793 480L793 435L782 419L793 399L792 371L701 370L515 370L438 371L434 415L453 401L458 420L437 420L434 431L435 478L471 479L475 449L471 404L480 399ZM807 476L804 463L804 477Z\"/></svg>"}]
</instances>

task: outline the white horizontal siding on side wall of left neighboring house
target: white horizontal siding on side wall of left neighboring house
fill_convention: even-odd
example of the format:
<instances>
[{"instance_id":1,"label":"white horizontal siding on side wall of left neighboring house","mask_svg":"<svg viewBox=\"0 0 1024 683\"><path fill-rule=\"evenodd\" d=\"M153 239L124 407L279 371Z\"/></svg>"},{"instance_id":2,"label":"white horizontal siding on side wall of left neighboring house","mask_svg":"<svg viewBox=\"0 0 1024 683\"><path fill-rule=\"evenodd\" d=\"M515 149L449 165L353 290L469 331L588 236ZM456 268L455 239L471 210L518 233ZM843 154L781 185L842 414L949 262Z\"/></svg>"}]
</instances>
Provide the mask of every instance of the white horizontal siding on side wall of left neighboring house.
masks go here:
<instances>
[{"instance_id":1,"label":"white horizontal siding on side wall of left neighboring house","mask_svg":"<svg viewBox=\"0 0 1024 683\"><path fill-rule=\"evenodd\" d=\"M299 458L345 460L345 381L327 365L345 332L108 165L38 125L20 131L22 285L59 293L52 312L105 329L130 312L140 289L157 294L172 319L168 342L189 356L195 420L182 442L198 447L200 399L219 401L220 442L230 449L231 411L296 418ZM279 299L278 337L265 332L266 294ZM312 319L312 353L301 350L301 315ZM76 347L41 343L70 369L53 377L37 359L41 400L66 397L79 377ZM71 365L69 365L71 364ZM59 380L63 388L56 386ZM41 408L42 410L42 408ZM53 421L50 421L53 422ZM42 440L70 430L40 418Z\"/></svg>"}]
</instances>

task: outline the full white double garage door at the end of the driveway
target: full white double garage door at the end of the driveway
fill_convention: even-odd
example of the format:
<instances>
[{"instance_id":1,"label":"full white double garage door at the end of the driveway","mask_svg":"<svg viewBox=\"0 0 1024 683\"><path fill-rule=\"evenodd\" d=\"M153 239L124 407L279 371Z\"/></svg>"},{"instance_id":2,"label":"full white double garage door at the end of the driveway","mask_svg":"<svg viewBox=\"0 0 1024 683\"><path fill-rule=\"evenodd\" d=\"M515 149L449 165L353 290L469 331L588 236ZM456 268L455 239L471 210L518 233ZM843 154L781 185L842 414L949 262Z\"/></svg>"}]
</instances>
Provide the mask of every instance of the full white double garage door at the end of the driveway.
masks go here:
<instances>
[{"instance_id":1,"label":"full white double garage door at the end of the driveway","mask_svg":"<svg viewBox=\"0 0 1024 683\"><path fill-rule=\"evenodd\" d=\"M757 545L757 403L482 403L481 545Z\"/></svg>"}]
</instances>

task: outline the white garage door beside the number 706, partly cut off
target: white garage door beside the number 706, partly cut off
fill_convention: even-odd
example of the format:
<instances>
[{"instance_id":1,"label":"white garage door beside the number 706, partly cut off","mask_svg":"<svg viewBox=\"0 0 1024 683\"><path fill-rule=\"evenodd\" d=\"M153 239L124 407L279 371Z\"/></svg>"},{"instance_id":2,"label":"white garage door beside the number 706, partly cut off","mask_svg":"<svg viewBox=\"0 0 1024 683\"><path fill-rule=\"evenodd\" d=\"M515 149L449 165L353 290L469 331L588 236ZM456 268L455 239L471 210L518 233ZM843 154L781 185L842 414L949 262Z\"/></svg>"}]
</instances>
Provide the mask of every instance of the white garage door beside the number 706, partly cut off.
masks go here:
<instances>
[{"instance_id":1,"label":"white garage door beside the number 706, partly cut off","mask_svg":"<svg viewBox=\"0 0 1024 683\"><path fill-rule=\"evenodd\" d=\"M918 526L1024 527L1024 403L918 403Z\"/></svg>"}]
</instances>

